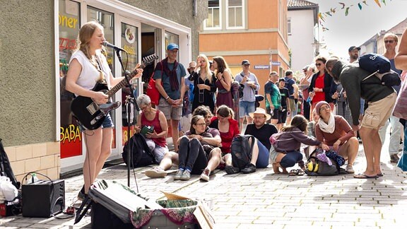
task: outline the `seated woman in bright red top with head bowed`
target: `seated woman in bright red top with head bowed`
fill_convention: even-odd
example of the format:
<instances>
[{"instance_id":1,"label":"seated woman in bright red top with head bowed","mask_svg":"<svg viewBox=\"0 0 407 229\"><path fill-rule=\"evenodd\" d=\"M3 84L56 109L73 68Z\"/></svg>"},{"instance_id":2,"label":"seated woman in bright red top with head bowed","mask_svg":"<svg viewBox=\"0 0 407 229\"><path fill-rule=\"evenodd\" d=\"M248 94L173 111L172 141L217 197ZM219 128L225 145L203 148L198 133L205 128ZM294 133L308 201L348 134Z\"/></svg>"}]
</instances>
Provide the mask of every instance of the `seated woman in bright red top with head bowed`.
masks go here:
<instances>
[{"instance_id":1,"label":"seated woman in bright red top with head bowed","mask_svg":"<svg viewBox=\"0 0 407 229\"><path fill-rule=\"evenodd\" d=\"M233 117L233 110L226 105L221 105L216 110L216 117L211 119L211 124L209 125L209 127L219 130L220 139L222 139L222 146L220 146L222 161L220 164L225 164L225 171L228 174L239 172L238 168L232 166L232 155L230 154L232 140L237 134L240 134L239 123Z\"/></svg>"}]
</instances>

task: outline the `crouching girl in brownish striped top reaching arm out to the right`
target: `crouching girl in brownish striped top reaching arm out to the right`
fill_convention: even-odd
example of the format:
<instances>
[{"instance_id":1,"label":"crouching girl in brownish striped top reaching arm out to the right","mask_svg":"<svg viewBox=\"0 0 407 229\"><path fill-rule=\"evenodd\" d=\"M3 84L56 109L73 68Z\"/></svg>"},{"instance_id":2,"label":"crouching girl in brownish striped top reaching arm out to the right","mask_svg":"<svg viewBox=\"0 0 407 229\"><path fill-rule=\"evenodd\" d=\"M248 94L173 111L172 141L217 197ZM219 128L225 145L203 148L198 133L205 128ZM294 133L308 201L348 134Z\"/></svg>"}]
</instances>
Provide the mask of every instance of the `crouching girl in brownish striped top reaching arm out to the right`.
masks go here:
<instances>
[{"instance_id":1,"label":"crouching girl in brownish striped top reaching arm out to the right","mask_svg":"<svg viewBox=\"0 0 407 229\"><path fill-rule=\"evenodd\" d=\"M270 153L274 173L281 173L279 168L282 168L283 173L288 173L287 168L298 163L302 170L296 170L295 175L304 174L305 164L302 160L302 153L300 153L301 143L308 146L319 146L326 151L329 150L329 146L307 136L307 123L304 116L297 114L291 120L290 126L283 127L281 133L273 134L273 137L277 138L276 143L272 144Z\"/></svg>"}]
</instances>

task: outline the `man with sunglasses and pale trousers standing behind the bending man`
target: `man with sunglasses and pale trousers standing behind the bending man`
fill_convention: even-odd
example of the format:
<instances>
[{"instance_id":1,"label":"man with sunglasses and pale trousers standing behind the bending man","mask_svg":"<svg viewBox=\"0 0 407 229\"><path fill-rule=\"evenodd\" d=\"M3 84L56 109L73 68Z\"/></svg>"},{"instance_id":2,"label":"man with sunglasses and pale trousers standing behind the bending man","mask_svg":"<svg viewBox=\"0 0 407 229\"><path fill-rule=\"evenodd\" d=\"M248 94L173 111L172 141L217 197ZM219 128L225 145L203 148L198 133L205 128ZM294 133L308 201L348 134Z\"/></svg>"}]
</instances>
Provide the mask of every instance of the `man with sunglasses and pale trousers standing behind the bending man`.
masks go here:
<instances>
[{"instance_id":1,"label":"man with sunglasses and pale trousers standing behind the bending man","mask_svg":"<svg viewBox=\"0 0 407 229\"><path fill-rule=\"evenodd\" d=\"M401 70L396 69L394 65L394 57L396 57L396 46L397 42L399 42L399 37L394 33L386 33L384 35L384 47L386 48L386 52L384 52L383 56L389 59L391 70L396 71L399 75L401 75ZM394 90L399 93L401 86L393 86ZM390 163L398 163L399 162L399 143L401 139L401 131L403 131L403 125L399 122L399 118L390 115L389 120L387 120L386 124L382 128L379 129L380 139L382 140L382 144L384 140L386 140L386 130L389 126L389 121L391 124L391 135L390 135L390 143L389 143L389 155L390 155ZM401 148L403 144L401 144Z\"/></svg>"}]
</instances>

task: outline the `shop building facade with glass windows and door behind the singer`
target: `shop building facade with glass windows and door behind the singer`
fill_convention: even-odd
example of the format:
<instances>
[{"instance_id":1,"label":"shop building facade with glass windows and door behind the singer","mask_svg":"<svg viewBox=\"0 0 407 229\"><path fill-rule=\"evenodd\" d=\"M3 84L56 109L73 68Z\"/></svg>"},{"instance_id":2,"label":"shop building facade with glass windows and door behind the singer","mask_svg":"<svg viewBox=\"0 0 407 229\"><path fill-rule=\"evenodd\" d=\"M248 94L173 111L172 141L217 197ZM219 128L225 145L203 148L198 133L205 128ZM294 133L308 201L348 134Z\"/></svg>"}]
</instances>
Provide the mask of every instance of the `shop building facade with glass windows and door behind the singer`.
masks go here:
<instances>
[{"instance_id":1,"label":"shop building facade with glass windows and door behind the singer","mask_svg":"<svg viewBox=\"0 0 407 229\"><path fill-rule=\"evenodd\" d=\"M165 58L170 42L179 44L179 61L187 65L199 53L199 28L208 16L207 1L56 0L8 1L0 19L0 138L18 180L27 172L57 178L82 167L81 132L70 114L72 95L64 90L69 58L83 23L97 20L108 42L122 47L132 71L148 54ZM114 76L119 59L107 48ZM145 69L148 80L154 64ZM143 81L133 82L136 95ZM124 104L124 92L114 100ZM121 158L127 136L124 106L114 110L110 160Z\"/></svg>"}]
</instances>

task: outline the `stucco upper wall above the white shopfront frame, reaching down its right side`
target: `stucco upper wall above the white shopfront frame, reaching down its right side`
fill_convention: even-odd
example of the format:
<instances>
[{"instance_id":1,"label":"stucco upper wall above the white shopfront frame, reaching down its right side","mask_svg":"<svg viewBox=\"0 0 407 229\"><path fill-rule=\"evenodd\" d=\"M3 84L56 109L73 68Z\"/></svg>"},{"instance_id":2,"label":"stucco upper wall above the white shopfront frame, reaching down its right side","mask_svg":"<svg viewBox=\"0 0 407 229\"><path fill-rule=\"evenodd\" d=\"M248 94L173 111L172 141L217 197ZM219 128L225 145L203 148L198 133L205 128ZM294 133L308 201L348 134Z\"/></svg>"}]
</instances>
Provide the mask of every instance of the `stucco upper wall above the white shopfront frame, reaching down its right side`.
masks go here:
<instances>
[{"instance_id":1,"label":"stucco upper wall above the white shopfront frame, reaching down its right side","mask_svg":"<svg viewBox=\"0 0 407 229\"><path fill-rule=\"evenodd\" d=\"M198 8L196 16L192 16L193 0L122 0L122 2L191 28L192 57L195 59L198 56L199 28L204 19L208 18L208 1L196 0Z\"/></svg>"}]
</instances>

